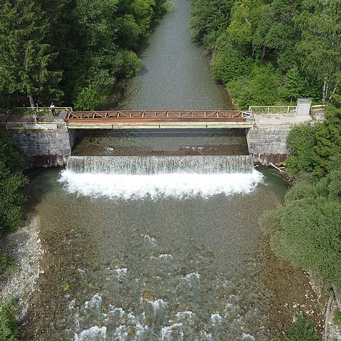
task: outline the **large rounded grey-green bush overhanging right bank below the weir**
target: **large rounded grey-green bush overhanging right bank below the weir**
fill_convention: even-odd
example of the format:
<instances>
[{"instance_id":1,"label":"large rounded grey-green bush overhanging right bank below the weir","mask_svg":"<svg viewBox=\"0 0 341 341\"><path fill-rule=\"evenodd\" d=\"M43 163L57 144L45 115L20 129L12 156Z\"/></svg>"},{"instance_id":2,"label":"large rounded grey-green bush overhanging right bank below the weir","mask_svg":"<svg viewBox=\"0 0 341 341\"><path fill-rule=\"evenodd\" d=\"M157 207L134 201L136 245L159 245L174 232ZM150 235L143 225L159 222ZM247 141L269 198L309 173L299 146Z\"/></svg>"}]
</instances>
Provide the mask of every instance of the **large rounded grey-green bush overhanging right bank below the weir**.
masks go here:
<instances>
[{"instance_id":1,"label":"large rounded grey-green bush overhanging right bank below the weir","mask_svg":"<svg viewBox=\"0 0 341 341\"><path fill-rule=\"evenodd\" d=\"M330 166L321 180L298 181L283 205L266 212L260 223L279 257L340 286L341 171L337 165Z\"/></svg>"}]
</instances>

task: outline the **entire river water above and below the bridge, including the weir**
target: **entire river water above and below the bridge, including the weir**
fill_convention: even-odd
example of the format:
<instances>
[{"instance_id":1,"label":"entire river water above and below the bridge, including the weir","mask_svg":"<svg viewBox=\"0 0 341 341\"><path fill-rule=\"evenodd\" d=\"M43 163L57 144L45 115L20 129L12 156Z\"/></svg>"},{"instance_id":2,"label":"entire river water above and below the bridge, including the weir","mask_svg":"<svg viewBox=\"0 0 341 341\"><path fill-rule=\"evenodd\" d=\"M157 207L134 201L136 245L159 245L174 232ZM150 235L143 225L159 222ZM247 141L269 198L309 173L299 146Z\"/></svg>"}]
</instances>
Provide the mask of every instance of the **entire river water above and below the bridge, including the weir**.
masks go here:
<instances>
[{"instance_id":1,"label":"entire river water above and below the bridge, including the weir","mask_svg":"<svg viewBox=\"0 0 341 341\"><path fill-rule=\"evenodd\" d=\"M172 2L121 108L228 108L190 1ZM278 340L315 299L257 223L285 191L244 131L82 132L65 170L31 180L45 254L23 340Z\"/></svg>"}]
</instances>

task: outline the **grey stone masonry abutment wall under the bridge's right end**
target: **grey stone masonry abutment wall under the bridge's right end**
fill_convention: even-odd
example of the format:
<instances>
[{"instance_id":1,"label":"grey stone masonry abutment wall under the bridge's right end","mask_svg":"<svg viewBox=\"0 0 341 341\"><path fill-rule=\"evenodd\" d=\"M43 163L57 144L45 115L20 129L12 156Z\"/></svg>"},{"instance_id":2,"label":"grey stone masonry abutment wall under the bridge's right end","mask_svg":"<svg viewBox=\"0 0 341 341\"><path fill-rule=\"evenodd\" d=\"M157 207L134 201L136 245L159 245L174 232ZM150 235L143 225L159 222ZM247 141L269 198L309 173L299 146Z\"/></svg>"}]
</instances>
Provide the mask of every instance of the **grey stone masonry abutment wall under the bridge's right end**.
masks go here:
<instances>
[{"instance_id":1,"label":"grey stone masonry abutment wall under the bridge's right end","mask_svg":"<svg viewBox=\"0 0 341 341\"><path fill-rule=\"evenodd\" d=\"M247 131L249 151L254 163L268 165L278 164L286 160L289 150L286 138L290 129L257 128Z\"/></svg>"}]
</instances>

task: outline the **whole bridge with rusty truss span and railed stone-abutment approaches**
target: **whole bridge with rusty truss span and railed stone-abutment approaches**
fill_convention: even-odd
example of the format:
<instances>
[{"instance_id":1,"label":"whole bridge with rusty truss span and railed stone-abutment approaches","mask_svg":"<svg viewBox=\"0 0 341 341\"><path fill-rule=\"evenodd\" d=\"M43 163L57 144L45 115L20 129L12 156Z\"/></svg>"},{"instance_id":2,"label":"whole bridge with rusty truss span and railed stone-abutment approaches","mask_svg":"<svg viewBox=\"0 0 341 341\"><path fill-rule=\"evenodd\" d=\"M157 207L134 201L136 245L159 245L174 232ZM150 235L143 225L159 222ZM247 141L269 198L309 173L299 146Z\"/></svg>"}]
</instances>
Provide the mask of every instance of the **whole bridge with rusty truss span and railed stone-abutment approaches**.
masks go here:
<instances>
[{"instance_id":1,"label":"whole bridge with rusty truss span and railed stone-abutment approaches","mask_svg":"<svg viewBox=\"0 0 341 341\"><path fill-rule=\"evenodd\" d=\"M310 105L310 104L309 104ZM320 120L325 106L311 106L310 114ZM311 119L309 111L298 114L298 106L251 106L247 111L232 110L115 110L74 112L71 107L0 109L0 129L172 129L172 128L261 128L291 129ZM33 112L38 122L33 122ZM323 116L322 116L323 117Z\"/></svg>"}]
</instances>

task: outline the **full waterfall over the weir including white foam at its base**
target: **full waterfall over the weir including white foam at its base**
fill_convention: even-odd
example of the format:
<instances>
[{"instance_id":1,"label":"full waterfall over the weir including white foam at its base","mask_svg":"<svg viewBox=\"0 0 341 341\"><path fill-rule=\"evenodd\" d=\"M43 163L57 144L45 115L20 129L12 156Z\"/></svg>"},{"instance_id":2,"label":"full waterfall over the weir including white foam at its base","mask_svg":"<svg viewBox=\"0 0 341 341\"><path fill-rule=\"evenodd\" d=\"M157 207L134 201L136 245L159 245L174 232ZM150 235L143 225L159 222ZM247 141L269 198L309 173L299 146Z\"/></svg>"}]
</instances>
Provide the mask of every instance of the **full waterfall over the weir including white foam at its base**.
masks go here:
<instances>
[{"instance_id":1,"label":"full waterfall over the weir including white foam at its base","mask_svg":"<svg viewBox=\"0 0 341 341\"><path fill-rule=\"evenodd\" d=\"M70 193L123 199L250 193L263 176L251 156L70 156L60 182Z\"/></svg>"}]
</instances>

